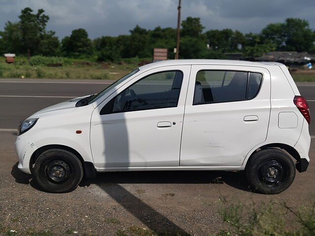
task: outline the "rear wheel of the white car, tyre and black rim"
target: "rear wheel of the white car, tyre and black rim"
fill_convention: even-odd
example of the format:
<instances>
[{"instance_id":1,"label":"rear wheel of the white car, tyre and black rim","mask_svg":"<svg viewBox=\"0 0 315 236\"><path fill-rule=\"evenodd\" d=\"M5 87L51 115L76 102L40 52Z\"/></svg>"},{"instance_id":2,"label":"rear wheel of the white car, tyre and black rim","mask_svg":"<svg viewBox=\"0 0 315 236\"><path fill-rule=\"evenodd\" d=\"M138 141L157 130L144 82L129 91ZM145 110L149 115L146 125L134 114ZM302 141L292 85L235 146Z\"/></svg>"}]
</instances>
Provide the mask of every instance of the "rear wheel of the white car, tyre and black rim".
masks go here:
<instances>
[{"instance_id":1,"label":"rear wheel of the white car, tyre and black rim","mask_svg":"<svg viewBox=\"0 0 315 236\"><path fill-rule=\"evenodd\" d=\"M295 165L291 157L275 148L254 153L245 171L252 189L263 194L283 192L295 177Z\"/></svg>"}]
</instances>

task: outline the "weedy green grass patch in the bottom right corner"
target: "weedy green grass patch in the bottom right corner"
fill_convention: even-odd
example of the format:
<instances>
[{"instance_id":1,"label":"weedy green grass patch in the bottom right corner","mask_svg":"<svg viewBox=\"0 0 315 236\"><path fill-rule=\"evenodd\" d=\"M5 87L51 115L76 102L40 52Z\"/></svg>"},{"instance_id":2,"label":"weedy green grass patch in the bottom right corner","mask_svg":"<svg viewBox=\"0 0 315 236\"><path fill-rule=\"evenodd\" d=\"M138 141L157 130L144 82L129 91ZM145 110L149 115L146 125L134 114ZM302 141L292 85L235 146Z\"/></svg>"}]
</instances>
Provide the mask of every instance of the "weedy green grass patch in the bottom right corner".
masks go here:
<instances>
[{"instance_id":1,"label":"weedy green grass patch in the bottom right corner","mask_svg":"<svg viewBox=\"0 0 315 236\"><path fill-rule=\"evenodd\" d=\"M300 208L292 208L286 202L268 202L259 205L252 202L228 204L221 198L221 217L227 229L217 236L314 236L315 201Z\"/></svg>"}]
</instances>

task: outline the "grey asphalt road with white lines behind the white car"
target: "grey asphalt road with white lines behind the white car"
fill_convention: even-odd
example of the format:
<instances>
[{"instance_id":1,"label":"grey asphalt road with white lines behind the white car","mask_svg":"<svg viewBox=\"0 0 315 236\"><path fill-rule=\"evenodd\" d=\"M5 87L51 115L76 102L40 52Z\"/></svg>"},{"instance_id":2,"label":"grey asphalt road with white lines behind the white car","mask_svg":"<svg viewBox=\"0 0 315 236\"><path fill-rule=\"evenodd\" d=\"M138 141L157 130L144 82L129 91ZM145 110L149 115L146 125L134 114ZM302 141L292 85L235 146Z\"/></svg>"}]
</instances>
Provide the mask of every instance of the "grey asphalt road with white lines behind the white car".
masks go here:
<instances>
[{"instance_id":1,"label":"grey asphalt road with white lines behind the white car","mask_svg":"<svg viewBox=\"0 0 315 236\"><path fill-rule=\"evenodd\" d=\"M0 128L15 129L20 121L47 106L72 97L97 93L112 81L0 80ZM310 133L315 136L315 83L298 83L311 109Z\"/></svg>"}]
</instances>

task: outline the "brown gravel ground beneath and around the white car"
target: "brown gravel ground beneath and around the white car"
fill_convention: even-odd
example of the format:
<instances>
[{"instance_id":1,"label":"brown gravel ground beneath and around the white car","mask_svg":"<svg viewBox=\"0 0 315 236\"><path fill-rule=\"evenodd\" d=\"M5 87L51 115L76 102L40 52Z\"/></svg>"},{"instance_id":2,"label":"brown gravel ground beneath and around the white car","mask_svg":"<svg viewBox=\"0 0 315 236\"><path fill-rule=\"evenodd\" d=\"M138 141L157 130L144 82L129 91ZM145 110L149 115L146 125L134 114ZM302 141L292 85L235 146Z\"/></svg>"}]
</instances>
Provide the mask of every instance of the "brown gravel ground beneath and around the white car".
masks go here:
<instances>
[{"instance_id":1,"label":"brown gravel ground beneath and around the white car","mask_svg":"<svg viewBox=\"0 0 315 236\"><path fill-rule=\"evenodd\" d=\"M17 232L11 235L27 234L32 228L53 235L112 236L130 227L215 235L224 226L221 196L245 204L288 200L296 207L315 193L311 162L308 171L297 173L291 187L278 195L252 193L242 172L205 171L102 173L83 180L73 192L51 194L17 169L15 138L14 132L0 132L0 226ZM314 156L312 139L311 159Z\"/></svg>"}]
</instances>

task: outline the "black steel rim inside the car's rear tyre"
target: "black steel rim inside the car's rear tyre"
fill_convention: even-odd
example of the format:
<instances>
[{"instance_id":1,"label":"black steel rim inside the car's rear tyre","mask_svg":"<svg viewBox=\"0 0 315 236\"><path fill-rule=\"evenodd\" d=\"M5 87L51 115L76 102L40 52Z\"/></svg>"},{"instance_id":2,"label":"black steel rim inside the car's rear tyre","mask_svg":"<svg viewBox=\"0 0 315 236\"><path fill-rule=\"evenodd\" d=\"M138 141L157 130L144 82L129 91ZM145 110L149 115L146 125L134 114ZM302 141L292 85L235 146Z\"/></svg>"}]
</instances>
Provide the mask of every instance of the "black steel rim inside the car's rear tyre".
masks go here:
<instances>
[{"instance_id":1,"label":"black steel rim inside the car's rear tyre","mask_svg":"<svg viewBox=\"0 0 315 236\"><path fill-rule=\"evenodd\" d=\"M287 168L278 160L267 160L258 166L257 178L267 187L277 187L287 177Z\"/></svg>"}]
</instances>

